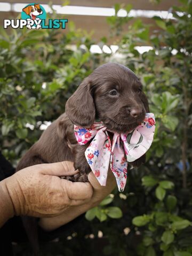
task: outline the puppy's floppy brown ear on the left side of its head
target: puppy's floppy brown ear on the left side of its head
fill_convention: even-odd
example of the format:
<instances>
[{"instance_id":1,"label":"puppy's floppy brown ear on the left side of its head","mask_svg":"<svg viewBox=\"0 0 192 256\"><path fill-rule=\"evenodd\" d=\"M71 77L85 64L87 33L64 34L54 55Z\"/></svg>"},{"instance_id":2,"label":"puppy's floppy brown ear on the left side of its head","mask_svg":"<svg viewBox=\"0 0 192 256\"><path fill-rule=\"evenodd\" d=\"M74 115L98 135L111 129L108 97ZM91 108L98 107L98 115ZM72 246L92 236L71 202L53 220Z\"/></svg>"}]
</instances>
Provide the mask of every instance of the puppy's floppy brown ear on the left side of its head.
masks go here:
<instances>
[{"instance_id":1,"label":"puppy's floppy brown ear on the left side of its head","mask_svg":"<svg viewBox=\"0 0 192 256\"><path fill-rule=\"evenodd\" d=\"M95 119L95 107L91 92L91 82L85 78L66 103L66 114L73 124L87 127Z\"/></svg>"}]
</instances>

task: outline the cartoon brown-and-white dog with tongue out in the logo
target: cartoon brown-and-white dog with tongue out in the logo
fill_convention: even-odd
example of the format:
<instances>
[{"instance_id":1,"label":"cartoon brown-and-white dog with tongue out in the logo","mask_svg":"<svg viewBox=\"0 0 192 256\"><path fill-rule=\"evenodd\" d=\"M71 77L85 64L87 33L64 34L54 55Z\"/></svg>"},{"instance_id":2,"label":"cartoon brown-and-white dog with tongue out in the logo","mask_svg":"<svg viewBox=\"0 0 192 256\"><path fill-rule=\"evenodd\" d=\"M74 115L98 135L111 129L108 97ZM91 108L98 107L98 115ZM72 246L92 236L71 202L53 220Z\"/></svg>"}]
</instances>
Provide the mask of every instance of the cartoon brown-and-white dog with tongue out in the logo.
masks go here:
<instances>
[{"instance_id":1,"label":"cartoon brown-and-white dog with tongue out in the logo","mask_svg":"<svg viewBox=\"0 0 192 256\"><path fill-rule=\"evenodd\" d=\"M39 4L28 5L25 8L23 8L22 11L30 16L30 19L27 19L28 21L30 21L30 20L40 20L39 18L37 18L37 16L41 15L43 13L43 10L41 9ZM27 28L28 29L31 29L31 28L39 29L39 28L41 28L41 25L37 24L36 27L31 27L30 25L27 25Z\"/></svg>"}]
</instances>

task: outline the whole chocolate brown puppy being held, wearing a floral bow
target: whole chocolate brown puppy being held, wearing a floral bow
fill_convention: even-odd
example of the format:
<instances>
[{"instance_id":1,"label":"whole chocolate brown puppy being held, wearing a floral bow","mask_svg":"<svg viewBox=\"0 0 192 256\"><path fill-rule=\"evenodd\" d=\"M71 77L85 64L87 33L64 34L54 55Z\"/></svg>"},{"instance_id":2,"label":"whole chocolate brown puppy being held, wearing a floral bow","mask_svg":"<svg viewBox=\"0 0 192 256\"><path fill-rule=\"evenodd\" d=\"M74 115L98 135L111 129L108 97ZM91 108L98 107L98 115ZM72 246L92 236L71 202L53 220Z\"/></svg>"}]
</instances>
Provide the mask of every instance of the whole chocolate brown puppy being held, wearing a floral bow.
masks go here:
<instances>
[{"instance_id":1,"label":"whole chocolate brown puppy being held, wearing a floral bow","mask_svg":"<svg viewBox=\"0 0 192 256\"><path fill-rule=\"evenodd\" d=\"M108 130L121 133L135 129L149 112L138 77L129 68L117 63L107 63L95 69L68 99L65 109L66 113L55 120L22 157L17 171L30 165L67 160L74 162L79 174L65 178L86 181L91 169L84 152L90 143L83 146L77 144L74 124L89 127L95 119L99 119ZM131 165L140 166L143 162L145 155ZM24 223L28 226L29 239L37 252L34 219L29 221L26 218Z\"/></svg>"}]
</instances>

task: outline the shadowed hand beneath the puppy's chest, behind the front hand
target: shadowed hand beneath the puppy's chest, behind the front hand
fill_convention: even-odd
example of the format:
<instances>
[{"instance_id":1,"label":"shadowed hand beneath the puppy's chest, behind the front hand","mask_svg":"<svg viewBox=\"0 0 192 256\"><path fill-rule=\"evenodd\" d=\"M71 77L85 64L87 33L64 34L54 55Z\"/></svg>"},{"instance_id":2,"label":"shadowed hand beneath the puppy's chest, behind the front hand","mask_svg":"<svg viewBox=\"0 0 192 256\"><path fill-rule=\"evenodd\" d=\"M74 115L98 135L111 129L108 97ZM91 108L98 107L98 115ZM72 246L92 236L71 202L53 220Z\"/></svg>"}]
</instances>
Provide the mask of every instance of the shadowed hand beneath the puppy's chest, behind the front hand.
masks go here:
<instances>
[{"instance_id":1,"label":"shadowed hand beneath the puppy's chest, behind the front hand","mask_svg":"<svg viewBox=\"0 0 192 256\"><path fill-rule=\"evenodd\" d=\"M95 178L93 172L88 175L88 179L93 187L93 194L89 202L86 202L79 206L71 206L61 215L53 218L41 218L39 225L45 230L54 230L62 225L65 225L69 221L78 217L82 213L88 211L94 206L97 206L116 186L115 176L109 169L107 176L106 186L101 186L98 180ZM82 183L83 184L83 183Z\"/></svg>"}]
</instances>

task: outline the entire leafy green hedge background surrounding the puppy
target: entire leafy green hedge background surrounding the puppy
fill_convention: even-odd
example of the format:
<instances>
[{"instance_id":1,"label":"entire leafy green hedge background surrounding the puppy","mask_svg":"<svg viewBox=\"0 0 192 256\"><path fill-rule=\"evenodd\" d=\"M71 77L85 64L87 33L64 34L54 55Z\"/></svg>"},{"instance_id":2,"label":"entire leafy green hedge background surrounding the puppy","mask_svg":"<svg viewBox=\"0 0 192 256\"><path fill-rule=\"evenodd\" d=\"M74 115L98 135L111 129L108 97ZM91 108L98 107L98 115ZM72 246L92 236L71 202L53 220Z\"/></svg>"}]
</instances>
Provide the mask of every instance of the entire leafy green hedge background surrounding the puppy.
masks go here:
<instances>
[{"instance_id":1,"label":"entire leafy green hedge background surrounding the puppy","mask_svg":"<svg viewBox=\"0 0 192 256\"><path fill-rule=\"evenodd\" d=\"M121 37L118 60L116 55L91 54L91 35L73 24L62 35L55 30L1 31L0 143L14 165L38 140L42 124L65 111L71 93L103 62L121 62L140 77L156 117L146 164L129 170L125 191L116 189L114 197L87 211L76 233L71 231L72 239L63 236L44 245L43 255L78 255L82 249L82 255L94 256L101 254L99 247L112 256L192 255L192 6L191 1L180 2L172 8L174 20L154 17L159 27L154 31L140 19L130 25L131 6L116 4L107 22L111 36ZM122 7L124 18L117 15ZM103 44L107 38L101 39L101 48ZM138 45L153 49L141 54Z\"/></svg>"}]
</instances>

